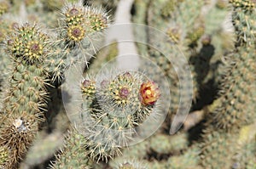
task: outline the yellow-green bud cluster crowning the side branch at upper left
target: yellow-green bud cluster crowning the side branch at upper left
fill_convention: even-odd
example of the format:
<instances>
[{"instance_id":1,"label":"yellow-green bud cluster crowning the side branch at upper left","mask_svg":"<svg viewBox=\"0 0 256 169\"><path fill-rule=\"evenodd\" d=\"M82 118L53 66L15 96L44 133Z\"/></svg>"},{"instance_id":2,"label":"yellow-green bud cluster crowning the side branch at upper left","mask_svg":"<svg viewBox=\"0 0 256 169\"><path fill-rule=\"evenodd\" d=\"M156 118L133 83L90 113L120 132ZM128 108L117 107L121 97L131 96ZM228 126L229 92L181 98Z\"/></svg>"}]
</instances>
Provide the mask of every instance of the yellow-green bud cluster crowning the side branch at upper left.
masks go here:
<instances>
[{"instance_id":1,"label":"yellow-green bud cluster crowning the side branch at upper left","mask_svg":"<svg viewBox=\"0 0 256 169\"><path fill-rule=\"evenodd\" d=\"M82 1L66 5L61 14L60 35L71 47L84 46L86 37L108 27L108 14L102 9L84 7Z\"/></svg>"}]
</instances>

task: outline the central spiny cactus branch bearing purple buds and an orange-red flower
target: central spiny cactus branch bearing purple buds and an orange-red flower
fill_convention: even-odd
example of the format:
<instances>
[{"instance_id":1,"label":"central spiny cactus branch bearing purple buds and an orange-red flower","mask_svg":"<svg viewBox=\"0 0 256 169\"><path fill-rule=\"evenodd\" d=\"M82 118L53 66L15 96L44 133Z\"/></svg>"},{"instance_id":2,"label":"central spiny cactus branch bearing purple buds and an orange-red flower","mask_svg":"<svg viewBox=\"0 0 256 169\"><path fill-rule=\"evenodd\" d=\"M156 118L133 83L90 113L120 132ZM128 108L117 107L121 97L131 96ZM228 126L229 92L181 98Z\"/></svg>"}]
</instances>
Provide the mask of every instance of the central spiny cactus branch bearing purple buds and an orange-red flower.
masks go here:
<instances>
[{"instance_id":1,"label":"central spiny cactus branch bearing purple buds and an orange-red flower","mask_svg":"<svg viewBox=\"0 0 256 169\"><path fill-rule=\"evenodd\" d=\"M91 125L85 137L88 138L87 149L91 158L107 160L119 154L119 149L131 141L135 127L153 113L160 89L144 76L128 71L103 79L99 85L94 82L85 79L82 83L82 113L84 118L85 114L90 115ZM92 84L96 86L92 87ZM95 91L88 93L90 90ZM86 104L88 102L91 104Z\"/></svg>"}]
</instances>

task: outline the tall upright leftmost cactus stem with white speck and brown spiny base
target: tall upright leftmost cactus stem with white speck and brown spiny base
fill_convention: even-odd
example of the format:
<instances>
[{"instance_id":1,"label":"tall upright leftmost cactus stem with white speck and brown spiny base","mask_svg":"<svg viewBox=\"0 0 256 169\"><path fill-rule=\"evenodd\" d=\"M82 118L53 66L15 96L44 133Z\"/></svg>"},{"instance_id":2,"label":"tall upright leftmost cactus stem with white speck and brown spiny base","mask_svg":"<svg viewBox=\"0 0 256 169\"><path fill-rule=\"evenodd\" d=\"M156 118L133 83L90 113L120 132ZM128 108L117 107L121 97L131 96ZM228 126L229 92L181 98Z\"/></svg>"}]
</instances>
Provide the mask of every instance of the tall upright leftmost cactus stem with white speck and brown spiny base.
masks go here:
<instances>
[{"instance_id":1,"label":"tall upright leftmost cactus stem with white speck and brown spiny base","mask_svg":"<svg viewBox=\"0 0 256 169\"><path fill-rule=\"evenodd\" d=\"M17 167L37 134L38 125L44 121L47 39L37 25L25 24L16 27L6 43L12 65L0 129L0 144L10 150L6 168Z\"/></svg>"}]
</instances>

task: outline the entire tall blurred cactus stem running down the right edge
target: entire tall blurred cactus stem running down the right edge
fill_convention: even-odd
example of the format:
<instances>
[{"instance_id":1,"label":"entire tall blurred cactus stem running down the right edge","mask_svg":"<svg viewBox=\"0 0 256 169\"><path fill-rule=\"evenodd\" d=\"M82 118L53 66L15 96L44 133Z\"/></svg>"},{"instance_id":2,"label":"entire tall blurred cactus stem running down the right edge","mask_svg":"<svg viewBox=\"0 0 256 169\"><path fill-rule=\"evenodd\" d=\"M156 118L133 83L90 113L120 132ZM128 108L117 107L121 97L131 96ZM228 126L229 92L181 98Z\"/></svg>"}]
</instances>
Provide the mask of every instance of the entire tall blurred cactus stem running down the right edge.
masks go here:
<instances>
[{"instance_id":1,"label":"entire tall blurred cactus stem running down the right edge","mask_svg":"<svg viewBox=\"0 0 256 169\"><path fill-rule=\"evenodd\" d=\"M250 2L253 3L253 1ZM248 33L248 30L243 27L244 20L241 20L241 17L248 12L251 13L250 17L254 17L255 10L247 1L230 1L230 3L234 7L233 16L237 16L233 18L237 37L236 50L229 59L230 65L223 82L224 89L219 98L219 108L210 115L210 122L203 135L205 139L202 144L201 165L210 168L237 168L240 167L239 165L246 165L243 162L241 164L234 162L233 155L237 152L241 155L240 147L246 148L247 145L237 143L239 129L243 130L245 125L255 122L253 103L256 79L253 75L256 70L256 50L253 42L255 39L251 38L254 37L255 27L249 27L250 33ZM246 22L247 25L253 25L254 21L248 19ZM218 152L219 149L222 149L222 152ZM250 161L249 158L247 160Z\"/></svg>"}]
</instances>

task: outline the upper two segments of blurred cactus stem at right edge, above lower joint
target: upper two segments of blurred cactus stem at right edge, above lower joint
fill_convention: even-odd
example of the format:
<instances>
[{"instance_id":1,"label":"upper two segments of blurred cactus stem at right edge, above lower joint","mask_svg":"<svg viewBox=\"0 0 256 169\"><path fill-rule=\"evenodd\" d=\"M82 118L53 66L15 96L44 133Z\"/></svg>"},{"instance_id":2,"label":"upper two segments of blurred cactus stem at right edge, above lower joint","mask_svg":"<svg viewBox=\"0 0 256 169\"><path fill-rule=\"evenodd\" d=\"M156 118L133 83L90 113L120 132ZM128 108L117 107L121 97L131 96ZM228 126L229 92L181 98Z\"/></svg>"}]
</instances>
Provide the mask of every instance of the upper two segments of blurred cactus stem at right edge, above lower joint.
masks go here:
<instances>
[{"instance_id":1,"label":"upper two segments of blurred cactus stem at right edge, above lower joint","mask_svg":"<svg viewBox=\"0 0 256 169\"><path fill-rule=\"evenodd\" d=\"M255 9L240 6L243 3L254 4L253 2L230 2L234 8L241 9L233 12L233 15L237 16L233 19L237 37L236 50L233 54L230 54L230 68L228 68L229 70L227 70L226 78L223 82L222 93L224 94L220 97L220 99L223 100L223 105L219 106L219 110L217 110L215 113L216 115L213 117L217 126L226 130L239 128L243 125L250 124L255 120L255 115L253 113L255 106L253 102L255 102L254 83L256 82L256 79L253 75L256 70L254 44L256 27L253 26L255 21L250 18L255 17L256 12ZM240 5L237 7L237 4ZM246 17L247 25L244 25L244 20L239 16L244 16L248 12L250 15ZM244 26L246 26L246 29L242 28Z\"/></svg>"}]
</instances>

